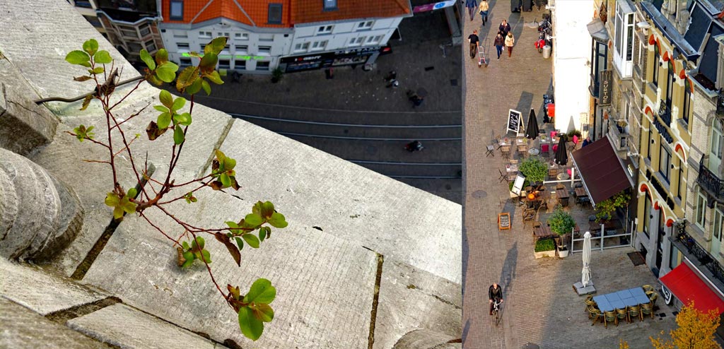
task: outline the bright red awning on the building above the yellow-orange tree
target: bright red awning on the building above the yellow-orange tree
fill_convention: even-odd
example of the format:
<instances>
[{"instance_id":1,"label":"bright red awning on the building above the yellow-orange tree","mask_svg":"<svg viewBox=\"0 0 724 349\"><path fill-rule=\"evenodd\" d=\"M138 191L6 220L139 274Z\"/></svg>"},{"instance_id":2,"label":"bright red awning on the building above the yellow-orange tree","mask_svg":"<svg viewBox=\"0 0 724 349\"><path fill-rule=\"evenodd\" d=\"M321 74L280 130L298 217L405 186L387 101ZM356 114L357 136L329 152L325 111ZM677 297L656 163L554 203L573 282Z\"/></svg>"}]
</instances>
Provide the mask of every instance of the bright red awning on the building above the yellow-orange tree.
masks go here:
<instances>
[{"instance_id":1,"label":"bright red awning on the building above the yellow-orange tree","mask_svg":"<svg viewBox=\"0 0 724 349\"><path fill-rule=\"evenodd\" d=\"M717 308L717 314L724 312L724 301L686 263L679 264L664 275L661 282L681 303L687 304L689 300L694 300L694 308L698 311L707 313L710 309Z\"/></svg>"}]
</instances>

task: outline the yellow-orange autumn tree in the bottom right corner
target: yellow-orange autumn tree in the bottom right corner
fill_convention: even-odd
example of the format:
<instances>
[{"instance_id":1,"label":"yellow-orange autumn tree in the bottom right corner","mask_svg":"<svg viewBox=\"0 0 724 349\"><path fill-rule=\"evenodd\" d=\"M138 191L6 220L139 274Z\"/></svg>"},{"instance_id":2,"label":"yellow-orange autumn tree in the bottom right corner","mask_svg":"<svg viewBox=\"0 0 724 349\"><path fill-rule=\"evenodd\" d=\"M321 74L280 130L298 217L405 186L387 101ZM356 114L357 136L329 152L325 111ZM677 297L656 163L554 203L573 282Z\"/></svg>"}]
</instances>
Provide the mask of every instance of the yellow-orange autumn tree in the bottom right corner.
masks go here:
<instances>
[{"instance_id":1,"label":"yellow-orange autumn tree in the bottom right corner","mask_svg":"<svg viewBox=\"0 0 724 349\"><path fill-rule=\"evenodd\" d=\"M649 337L656 349L715 349L721 346L714 340L714 332L719 327L719 314L712 309L708 313L696 310L694 300L681 308L676 316L677 329L669 332L670 340L661 337ZM661 332L663 335L664 332Z\"/></svg>"}]
</instances>

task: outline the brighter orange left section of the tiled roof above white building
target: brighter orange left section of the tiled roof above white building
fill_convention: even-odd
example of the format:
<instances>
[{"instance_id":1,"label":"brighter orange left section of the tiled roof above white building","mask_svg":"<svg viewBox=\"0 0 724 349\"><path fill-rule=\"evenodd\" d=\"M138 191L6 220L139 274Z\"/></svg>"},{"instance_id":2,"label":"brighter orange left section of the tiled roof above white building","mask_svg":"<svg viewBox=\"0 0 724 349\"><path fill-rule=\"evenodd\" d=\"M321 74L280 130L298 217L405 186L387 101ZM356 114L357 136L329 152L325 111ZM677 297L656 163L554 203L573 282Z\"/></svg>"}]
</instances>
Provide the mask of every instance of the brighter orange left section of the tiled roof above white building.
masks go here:
<instances>
[{"instance_id":1,"label":"brighter orange left section of the tiled roof above white building","mask_svg":"<svg viewBox=\"0 0 724 349\"><path fill-rule=\"evenodd\" d=\"M237 6L237 3L244 11ZM209 6L206 6L207 4ZM269 20L269 4L282 4L281 24L267 22ZM164 22L167 23L195 24L224 17L256 27L289 28L292 26L290 0L184 0L183 20L170 20L170 8L171 0L161 1L161 14L164 17Z\"/></svg>"}]
</instances>

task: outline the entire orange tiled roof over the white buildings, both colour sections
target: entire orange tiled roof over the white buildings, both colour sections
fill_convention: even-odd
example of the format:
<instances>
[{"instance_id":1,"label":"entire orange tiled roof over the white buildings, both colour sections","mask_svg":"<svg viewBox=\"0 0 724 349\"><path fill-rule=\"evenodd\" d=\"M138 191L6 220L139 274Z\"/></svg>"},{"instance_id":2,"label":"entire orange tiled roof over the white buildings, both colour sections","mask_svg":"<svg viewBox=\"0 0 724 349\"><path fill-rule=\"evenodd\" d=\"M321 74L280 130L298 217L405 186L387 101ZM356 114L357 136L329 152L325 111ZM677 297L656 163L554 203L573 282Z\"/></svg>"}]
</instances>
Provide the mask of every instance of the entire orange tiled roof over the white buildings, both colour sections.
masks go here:
<instances>
[{"instance_id":1,"label":"entire orange tiled roof over the white buildings, both colour sections","mask_svg":"<svg viewBox=\"0 0 724 349\"><path fill-rule=\"evenodd\" d=\"M209 6L206 6L207 4ZM282 4L281 24L267 22L269 4ZM161 1L161 14L167 23L194 24L224 17L246 25L266 28L290 28L295 23L412 14L408 0L337 0L337 9L334 11L324 11L323 0L183 0L183 20L170 20L170 7L171 0Z\"/></svg>"}]
</instances>

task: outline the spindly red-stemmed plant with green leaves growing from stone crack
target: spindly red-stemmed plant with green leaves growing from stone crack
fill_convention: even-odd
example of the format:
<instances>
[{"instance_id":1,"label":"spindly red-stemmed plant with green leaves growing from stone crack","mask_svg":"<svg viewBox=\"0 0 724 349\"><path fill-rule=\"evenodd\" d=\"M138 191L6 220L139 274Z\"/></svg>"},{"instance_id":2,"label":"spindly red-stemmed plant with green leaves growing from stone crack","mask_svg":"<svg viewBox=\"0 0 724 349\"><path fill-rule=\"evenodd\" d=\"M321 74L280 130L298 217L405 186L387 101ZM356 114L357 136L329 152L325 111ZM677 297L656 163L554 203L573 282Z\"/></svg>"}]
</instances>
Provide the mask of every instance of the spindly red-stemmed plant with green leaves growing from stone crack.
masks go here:
<instances>
[{"instance_id":1,"label":"spindly red-stemmed plant with green leaves growing from stone crack","mask_svg":"<svg viewBox=\"0 0 724 349\"><path fill-rule=\"evenodd\" d=\"M194 193L202 188L211 188L212 190L238 190L240 188L236 180L236 160L227 156L222 151L216 150L215 157L211 164L211 172L203 177L176 184L172 174L176 168L182 150L186 142L186 134L188 128L193 122L194 95L203 89L206 94L211 93L211 85L224 83L216 72L216 62L218 54L226 45L227 38L215 38L203 50L203 54L192 52L191 56L199 59L197 66L186 67L178 74L178 66L168 60L168 52L164 49L158 51L155 57L151 57L148 51L140 51L140 59L146 63L147 68L144 69L145 75L138 79L138 83L128 93L126 93L118 101L111 102L111 96L117 87L117 79L119 74L114 68L114 60L108 51L98 50L98 42L90 39L83 43L83 50L71 51L65 57L65 60L71 64L77 64L87 68L88 75L74 77L73 80L83 82L92 80L96 84L95 91L85 96L81 110L88 107L91 101L98 100L106 117L106 133L107 139L96 139L94 126L80 125L73 132L78 140L88 140L90 143L105 148L108 151L108 158L104 160L85 160L101 164L108 164L113 174L112 190L106 195L105 203L113 209L114 219L123 219L125 214L138 214L138 216L148 222L155 230L172 241L177 248L179 266L187 268L193 265L194 261L201 261L206 266L207 272L214 283L216 290L221 293L224 301L234 309L237 313L239 327L245 337L251 340L257 340L262 332L264 332L264 322L270 322L274 319L274 310L269 304L277 295L277 290L271 285L268 279L257 279L246 294L242 294L239 286L227 285L226 290L222 290L219 283L216 282L214 274L211 271L211 254L206 250L206 241L201 235L212 235L219 243L227 248L232 258L238 266L241 265L240 251L244 245L252 248L258 248L259 244L265 239L271 237L271 227L284 228L287 222L282 214L279 214L274 205L269 202L258 201L251 209L251 213L246 214L243 218L235 221L225 222L226 227L222 228L205 228L195 227L189 222L174 216L172 211L167 207L169 203L174 201L185 200L192 204L197 201ZM110 72L106 70L106 64L111 64ZM161 135L167 131L171 131L172 143L168 138L165 142L169 143L171 148L171 159L169 161L169 170L163 180L156 180L151 177L148 170L148 164L140 169L135 157L131 151L132 143L140 138L140 134L136 134L130 138L123 125L125 122L138 117L146 107L140 109L135 114L121 119L114 114L122 101L130 96L143 81L148 81L154 85L163 83L171 83L176 80L176 88L180 93L188 93L190 95L190 104L188 110L183 110L187 100L183 97L173 98L168 91L161 90L159 93L159 101L161 105L153 106L160 114L156 121L151 121L146 127L146 135L148 140L156 142L164 142ZM115 144L114 144L115 140ZM117 146L118 142L122 146ZM135 176L135 182L138 183L135 188L125 190L119 184L119 168L117 167L117 156L125 154L130 161L132 175ZM145 184L148 184L146 186ZM147 188L148 187L148 188ZM174 197L172 193L182 193ZM147 209L158 209L163 214L171 218L177 224L182 233L177 237L173 237L169 232L165 232L154 224L146 214ZM183 240L182 239L186 239ZM188 240L188 241L187 241ZM190 241L190 243L189 243Z\"/></svg>"}]
</instances>

